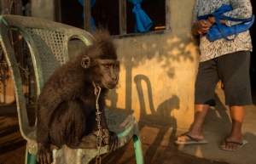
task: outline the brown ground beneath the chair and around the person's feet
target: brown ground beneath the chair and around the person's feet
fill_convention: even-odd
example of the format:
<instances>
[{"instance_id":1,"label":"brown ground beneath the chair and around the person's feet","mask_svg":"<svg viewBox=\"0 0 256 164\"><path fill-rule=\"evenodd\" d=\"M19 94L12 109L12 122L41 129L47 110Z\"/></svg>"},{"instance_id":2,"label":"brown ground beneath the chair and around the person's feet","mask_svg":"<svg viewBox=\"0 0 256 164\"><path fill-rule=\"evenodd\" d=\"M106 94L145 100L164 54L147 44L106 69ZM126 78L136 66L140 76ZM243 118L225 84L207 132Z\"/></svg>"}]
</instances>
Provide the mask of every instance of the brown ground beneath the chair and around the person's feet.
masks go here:
<instances>
[{"instance_id":1,"label":"brown ground beneath the chair and around the person's feet","mask_svg":"<svg viewBox=\"0 0 256 164\"><path fill-rule=\"evenodd\" d=\"M255 88L254 88L255 89ZM254 90L255 91L255 90ZM255 92L256 93L256 92ZM139 122L143 142L145 164L253 164L256 163L256 96L253 105L247 106L242 127L248 144L234 152L220 150L218 145L228 136L231 122L229 110L224 105L224 92L216 90L217 105L209 110L204 127L208 144L177 146L174 140L185 129L160 127L148 122ZM0 105L0 164L20 164L25 161L26 140L22 139L18 126L15 105ZM30 106L29 117L34 116ZM91 161L90 163L95 163ZM130 141L119 150L102 156L102 163L136 163L133 143Z\"/></svg>"}]
</instances>

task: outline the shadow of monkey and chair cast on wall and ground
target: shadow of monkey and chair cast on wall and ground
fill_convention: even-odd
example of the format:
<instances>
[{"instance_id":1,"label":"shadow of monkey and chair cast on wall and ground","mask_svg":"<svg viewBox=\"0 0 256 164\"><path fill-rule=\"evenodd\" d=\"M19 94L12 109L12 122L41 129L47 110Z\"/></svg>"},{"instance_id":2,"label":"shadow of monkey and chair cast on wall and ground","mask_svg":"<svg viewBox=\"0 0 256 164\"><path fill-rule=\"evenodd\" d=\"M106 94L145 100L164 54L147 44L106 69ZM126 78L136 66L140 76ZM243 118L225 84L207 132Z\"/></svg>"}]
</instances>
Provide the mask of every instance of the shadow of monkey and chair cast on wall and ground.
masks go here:
<instances>
[{"instance_id":1,"label":"shadow of monkey and chair cast on wall and ground","mask_svg":"<svg viewBox=\"0 0 256 164\"><path fill-rule=\"evenodd\" d=\"M148 102L149 102L149 108L151 114L147 114L146 111L146 105L145 105L145 97L143 95L143 87L142 87L142 81L146 82L147 88L148 88ZM158 108L154 109L153 104L153 94L152 94L152 88L150 81L147 76L144 75L137 75L134 77L134 82L136 83L137 87L137 93L138 98L140 101L140 121L139 122L145 122L147 127L157 127L158 126L164 126L165 128L159 128L158 133L154 137L153 143L150 143L145 154L145 163L154 163L156 161L159 161L158 159L155 159L155 155L158 154L160 156L163 156L162 153L166 152L166 149L168 149L168 145L172 144L169 143L170 140L174 140L176 129L177 129L177 121L176 118L172 115L172 110L179 109L179 98L177 95L172 95L170 99L164 100ZM144 126L146 127L146 126ZM172 128L172 132L170 133L170 128ZM141 127L143 129L143 127ZM163 130L164 129L164 130ZM165 136L168 137L167 142L163 142L165 140ZM147 142L147 141L146 141ZM163 148L160 150L158 149L160 146L163 146L162 143L168 143L165 144Z\"/></svg>"}]
</instances>

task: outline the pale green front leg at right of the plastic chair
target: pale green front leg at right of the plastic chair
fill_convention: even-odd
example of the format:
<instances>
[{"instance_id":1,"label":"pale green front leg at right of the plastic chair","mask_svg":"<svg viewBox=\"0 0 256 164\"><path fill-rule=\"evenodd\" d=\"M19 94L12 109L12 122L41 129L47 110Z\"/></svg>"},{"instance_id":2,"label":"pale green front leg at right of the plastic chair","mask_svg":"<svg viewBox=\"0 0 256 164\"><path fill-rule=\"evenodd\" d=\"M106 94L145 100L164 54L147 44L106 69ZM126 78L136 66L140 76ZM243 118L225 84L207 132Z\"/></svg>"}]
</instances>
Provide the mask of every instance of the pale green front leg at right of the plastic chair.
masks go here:
<instances>
[{"instance_id":1,"label":"pale green front leg at right of the plastic chair","mask_svg":"<svg viewBox=\"0 0 256 164\"><path fill-rule=\"evenodd\" d=\"M134 134L132 138L137 164L143 164L144 160L141 139L139 139L136 134Z\"/></svg>"}]
</instances>

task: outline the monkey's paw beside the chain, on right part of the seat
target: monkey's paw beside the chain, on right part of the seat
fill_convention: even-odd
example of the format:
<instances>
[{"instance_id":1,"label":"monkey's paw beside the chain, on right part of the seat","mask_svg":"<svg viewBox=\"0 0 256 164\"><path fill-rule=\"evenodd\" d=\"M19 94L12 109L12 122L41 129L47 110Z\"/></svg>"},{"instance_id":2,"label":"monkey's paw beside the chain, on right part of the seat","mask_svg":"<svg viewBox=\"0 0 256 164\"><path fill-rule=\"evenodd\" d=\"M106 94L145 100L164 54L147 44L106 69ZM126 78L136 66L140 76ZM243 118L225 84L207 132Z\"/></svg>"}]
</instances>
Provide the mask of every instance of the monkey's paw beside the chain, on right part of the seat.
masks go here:
<instances>
[{"instance_id":1,"label":"monkey's paw beside the chain, on right part of the seat","mask_svg":"<svg viewBox=\"0 0 256 164\"><path fill-rule=\"evenodd\" d=\"M102 142L103 144L108 144L108 152L112 152L119 148L118 136L108 129L102 129Z\"/></svg>"}]
</instances>

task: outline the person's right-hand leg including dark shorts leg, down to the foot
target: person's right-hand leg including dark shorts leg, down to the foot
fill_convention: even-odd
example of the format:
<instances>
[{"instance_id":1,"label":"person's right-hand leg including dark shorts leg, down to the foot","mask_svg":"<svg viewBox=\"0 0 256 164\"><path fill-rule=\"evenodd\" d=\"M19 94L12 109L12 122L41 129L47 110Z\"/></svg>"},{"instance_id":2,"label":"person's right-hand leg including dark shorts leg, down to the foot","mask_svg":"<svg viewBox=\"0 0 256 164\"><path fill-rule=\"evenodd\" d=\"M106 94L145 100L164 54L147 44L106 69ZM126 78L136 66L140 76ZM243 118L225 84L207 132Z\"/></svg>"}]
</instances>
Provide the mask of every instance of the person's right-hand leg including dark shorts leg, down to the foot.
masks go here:
<instances>
[{"instance_id":1,"label":"person's right-hand leg including dark shorts leg, down to the foot","mask_svg":"<svg viewBox=\"0 0 256 164\"><path fill-rule=\"evenodd\" d=\"M219 57L218 73L224 82L225 104L230 106L232 128L230 135L220 145L226 150L237 150L242 143L241 125L245 115L245 105L252 104L250 78L250 53L237 52ZM229 142L231 141L231 142Z\"/></svg>"}]
</instances>

